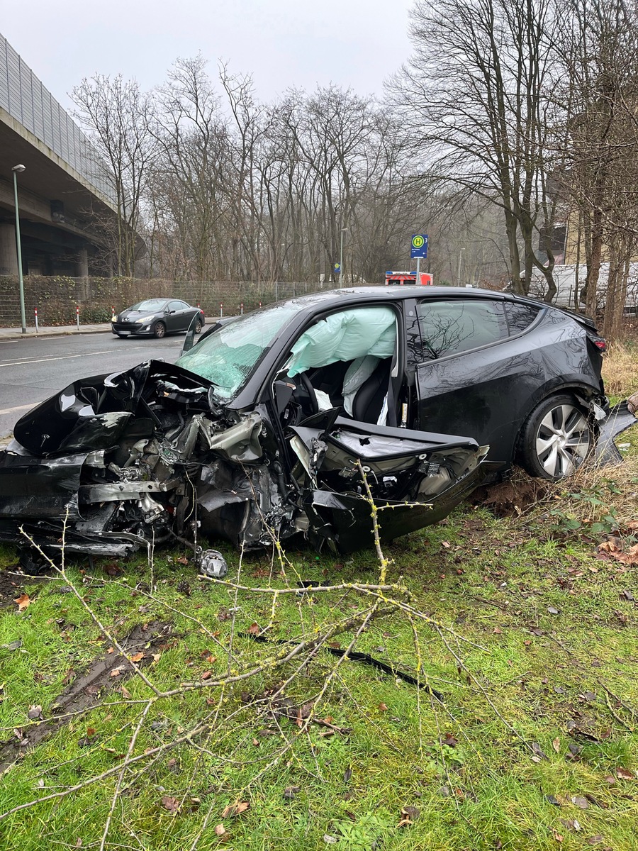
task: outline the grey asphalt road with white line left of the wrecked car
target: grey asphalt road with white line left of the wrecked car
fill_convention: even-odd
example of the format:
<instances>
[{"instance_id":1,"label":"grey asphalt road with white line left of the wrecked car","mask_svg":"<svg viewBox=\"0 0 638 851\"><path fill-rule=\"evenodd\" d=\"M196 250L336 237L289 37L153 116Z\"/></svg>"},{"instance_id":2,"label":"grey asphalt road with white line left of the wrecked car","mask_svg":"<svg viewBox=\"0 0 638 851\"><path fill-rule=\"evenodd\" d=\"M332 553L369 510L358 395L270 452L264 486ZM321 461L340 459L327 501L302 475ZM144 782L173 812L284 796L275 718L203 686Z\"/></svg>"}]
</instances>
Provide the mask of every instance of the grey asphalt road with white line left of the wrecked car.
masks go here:
<instances>
[{"instance_id":1,"label":"grey asphalt road with white line left of the wrecked car","mask_svg":"<svg viewBox=\"0 0 638 851\"><path fill-rule=\"evenodd\" d=\"M151 358L174 363L184 336L120 339L107 332L0 341L0 437L29 408L77 378L117 372Z\"/></svg>"}]
</instances>

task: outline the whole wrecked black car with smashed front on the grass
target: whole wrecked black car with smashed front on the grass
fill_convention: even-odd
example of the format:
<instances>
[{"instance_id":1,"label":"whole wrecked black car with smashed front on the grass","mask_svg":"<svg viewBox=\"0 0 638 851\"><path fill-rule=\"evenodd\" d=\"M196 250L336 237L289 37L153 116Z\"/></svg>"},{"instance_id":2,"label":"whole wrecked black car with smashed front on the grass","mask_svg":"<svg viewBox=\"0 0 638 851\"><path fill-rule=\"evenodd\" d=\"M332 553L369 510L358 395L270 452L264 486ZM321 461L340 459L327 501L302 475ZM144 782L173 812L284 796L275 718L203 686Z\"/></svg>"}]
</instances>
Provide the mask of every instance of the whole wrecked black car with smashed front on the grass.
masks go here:
<instances>
[{"instance_id":1,"label":"whole wrecked black car with smashed front on the grass","mask_svg":"<svg viewBox=\"0 0 638 851\"><path fill-rule=\"evenodd\" d=\"M583 463L607 415L603 347L583 317L510 294L282 302L22 417L0 455L0 540L120 557L303 534L349 552L372 544L370 498L392 539L517 458L545 478Z\"/></svg>"}]
</instances>

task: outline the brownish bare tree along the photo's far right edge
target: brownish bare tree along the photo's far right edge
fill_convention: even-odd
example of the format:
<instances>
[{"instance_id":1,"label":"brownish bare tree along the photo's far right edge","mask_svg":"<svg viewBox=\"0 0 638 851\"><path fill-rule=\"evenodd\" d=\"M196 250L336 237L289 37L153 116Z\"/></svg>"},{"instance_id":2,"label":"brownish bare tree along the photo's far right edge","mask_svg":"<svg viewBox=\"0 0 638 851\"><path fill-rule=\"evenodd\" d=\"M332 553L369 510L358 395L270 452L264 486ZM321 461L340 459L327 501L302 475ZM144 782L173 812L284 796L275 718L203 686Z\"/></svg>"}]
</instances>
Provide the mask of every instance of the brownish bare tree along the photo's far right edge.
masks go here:
<instances>
[{"instance_id":1,"label":"brownish bare tree along the photo's far right edge","mask_svg":"<svg viewBox=\"0 0 638 851\"><path fill-rule=\"evenodd\" d=\"M561 13L557 53L565 69L557 95L567 111L563 191L582 223L587 275L581 300L595 315L601 262L609 260L604 333L620 334L629 260L638 247L635 4L570 0Z\"/></svg>"}]
</instances>

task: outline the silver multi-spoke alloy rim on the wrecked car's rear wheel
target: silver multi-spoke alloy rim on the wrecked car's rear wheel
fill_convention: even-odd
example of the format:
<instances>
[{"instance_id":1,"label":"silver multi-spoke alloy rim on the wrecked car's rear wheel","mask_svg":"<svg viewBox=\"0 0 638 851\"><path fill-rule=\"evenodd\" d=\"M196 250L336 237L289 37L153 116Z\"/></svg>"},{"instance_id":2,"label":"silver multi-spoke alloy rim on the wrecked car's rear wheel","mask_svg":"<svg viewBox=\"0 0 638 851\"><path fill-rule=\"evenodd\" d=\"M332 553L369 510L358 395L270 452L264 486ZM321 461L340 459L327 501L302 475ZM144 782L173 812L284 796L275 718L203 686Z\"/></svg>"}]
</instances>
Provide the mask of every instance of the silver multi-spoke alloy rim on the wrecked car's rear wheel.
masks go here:
<instances>
[{"instance_id":1,"label":"silver multi-spoke alloy rim on the wrecked car's rear wheel","mask_svg":"<svg viewBox=\"0 0 638 851\"><path fill-rule=\"evenodd\" d=\"M590 427L583 412L574 405L557 405L540 421L536 454L549 476L571 476L587 457L590 446Z\"/></svg>"}]
</instances>

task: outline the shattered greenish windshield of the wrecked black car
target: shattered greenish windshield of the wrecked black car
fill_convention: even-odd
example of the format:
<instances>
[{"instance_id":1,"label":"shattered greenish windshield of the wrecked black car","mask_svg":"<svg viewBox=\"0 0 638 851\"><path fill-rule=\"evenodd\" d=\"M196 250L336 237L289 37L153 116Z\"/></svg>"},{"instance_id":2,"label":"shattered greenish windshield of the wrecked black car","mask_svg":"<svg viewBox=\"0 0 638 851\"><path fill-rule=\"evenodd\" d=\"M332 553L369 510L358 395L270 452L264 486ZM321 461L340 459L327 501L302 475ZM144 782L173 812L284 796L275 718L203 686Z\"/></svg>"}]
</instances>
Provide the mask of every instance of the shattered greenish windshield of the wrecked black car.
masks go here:
<instances>
[{"instance_id":1,"label":"shattered greenish windshield of the wrecked black car","mask_svg":"<svg viewBox=\"0 0 638 851\"><path fill-rule=\"evenodd\" d=\"M304 305L284 302L238 317L201 340L179 358L177 365L215 385L215 395L236 396L288 320Z\"/></svg>"}]
</instances>

